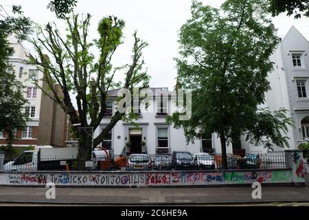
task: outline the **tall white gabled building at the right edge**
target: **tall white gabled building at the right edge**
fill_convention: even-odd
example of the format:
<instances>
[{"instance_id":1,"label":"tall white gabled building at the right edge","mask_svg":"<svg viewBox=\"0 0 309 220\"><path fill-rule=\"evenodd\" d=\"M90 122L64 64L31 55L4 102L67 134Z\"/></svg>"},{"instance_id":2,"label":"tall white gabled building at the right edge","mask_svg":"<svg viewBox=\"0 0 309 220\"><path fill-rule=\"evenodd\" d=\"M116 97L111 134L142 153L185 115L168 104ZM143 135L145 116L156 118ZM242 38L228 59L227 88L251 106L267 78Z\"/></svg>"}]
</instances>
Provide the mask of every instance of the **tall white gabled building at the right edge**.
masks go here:
<instances>
[{"instance_id":1,"label":"tall white gabled building at the right edge","mask_svg":"<svg viewBox=\"0 0 309 220\"><path fill-rule=\"evenodd\" d=\"M275 30L277 34L277 30ZM290 126L287 137L290 148L296 149L301 142L308 139L309 126L304 118L309 117L309 43L295 28L290 28L288 34L279 43L271 61L274 70L268 74L271 90L266 94L266 103L262 107L268 107L271 111L287 109L287 116L293 118L295 126ZM302 96L298 94L297 83L303 83ZM301 85L299 87L301 87ZM304 89L303 89L304 88ZM304 120L304 123L301 123ZM308 129L308 130L306 130ZM306 130L306 131L305 131ZM304 134L303 134L304 131ZM251 146L246 142L242 144L247 153L267 153L262 146ZM275 147L275 152L284 151L288 148Z\"/></svg>"}]
</instances>

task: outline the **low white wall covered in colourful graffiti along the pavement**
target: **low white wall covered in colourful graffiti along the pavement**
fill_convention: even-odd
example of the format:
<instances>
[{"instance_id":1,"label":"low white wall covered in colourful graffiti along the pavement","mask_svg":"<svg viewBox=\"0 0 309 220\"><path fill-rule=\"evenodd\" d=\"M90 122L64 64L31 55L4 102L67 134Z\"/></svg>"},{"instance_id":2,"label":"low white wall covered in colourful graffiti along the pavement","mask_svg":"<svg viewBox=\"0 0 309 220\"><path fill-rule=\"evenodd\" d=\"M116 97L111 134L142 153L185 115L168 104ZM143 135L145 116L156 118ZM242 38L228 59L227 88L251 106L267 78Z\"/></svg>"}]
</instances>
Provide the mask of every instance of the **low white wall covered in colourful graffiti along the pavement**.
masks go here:
<instances>
[{"instance_id":1,"label":"low white wall covered in colourful graffiti along the pavement","mask_svg":"<svg viewBox=\"0 0 309 220\"><path fill-rule=\"evenodd\" d=\"M0 173L2 186L211 186L293 183L293 170Z\"/></svg>"}]
</instances>

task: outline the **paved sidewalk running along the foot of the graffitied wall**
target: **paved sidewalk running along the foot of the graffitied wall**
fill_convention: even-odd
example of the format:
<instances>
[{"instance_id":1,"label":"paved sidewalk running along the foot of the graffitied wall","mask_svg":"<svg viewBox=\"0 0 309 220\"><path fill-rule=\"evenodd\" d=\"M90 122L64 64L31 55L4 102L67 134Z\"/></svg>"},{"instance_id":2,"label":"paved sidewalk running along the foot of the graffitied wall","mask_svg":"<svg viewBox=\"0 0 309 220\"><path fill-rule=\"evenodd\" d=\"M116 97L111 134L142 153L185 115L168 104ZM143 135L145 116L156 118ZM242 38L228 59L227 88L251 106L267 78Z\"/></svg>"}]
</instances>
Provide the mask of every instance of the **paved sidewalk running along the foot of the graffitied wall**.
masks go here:
<instances>
[{"instance_id":1,"label":"paved sidewalk running along the foot of the graffitied wall","mask_svg":"<svg viewBox=\"0 0 309 220\"><path fill-rule=\"evenodd\" d=\"M306 187L262 187L262 199L253 199L251 187L223 188L56 188L56 199L47 199L47 188L0 187L4 204L69 205L225 205L309 204Z\"/></svg>"}]
</instances>

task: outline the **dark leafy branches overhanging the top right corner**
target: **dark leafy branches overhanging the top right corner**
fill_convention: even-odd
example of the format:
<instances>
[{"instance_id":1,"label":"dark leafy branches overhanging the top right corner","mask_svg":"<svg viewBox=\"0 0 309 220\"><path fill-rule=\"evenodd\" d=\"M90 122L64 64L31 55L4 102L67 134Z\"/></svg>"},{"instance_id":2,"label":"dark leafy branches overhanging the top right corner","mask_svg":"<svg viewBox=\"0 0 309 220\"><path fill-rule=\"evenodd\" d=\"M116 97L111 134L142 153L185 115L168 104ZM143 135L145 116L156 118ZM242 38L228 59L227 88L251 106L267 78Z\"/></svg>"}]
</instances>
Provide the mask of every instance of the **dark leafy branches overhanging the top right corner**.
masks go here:
<instances>
[{"instance_id":1,"label":"dark leafy branches overhanging the top right corner","mask_svg":"<svg viewBox=\"0 0 309 220\"><path fill-rule=\"evenodd\" d=\"M288 16L295 14L295 19L301 18L301 15L309 17L308 0L269 0L269 4L273 17L283 12L287 12Z\"/></svg>"}]
</instances>

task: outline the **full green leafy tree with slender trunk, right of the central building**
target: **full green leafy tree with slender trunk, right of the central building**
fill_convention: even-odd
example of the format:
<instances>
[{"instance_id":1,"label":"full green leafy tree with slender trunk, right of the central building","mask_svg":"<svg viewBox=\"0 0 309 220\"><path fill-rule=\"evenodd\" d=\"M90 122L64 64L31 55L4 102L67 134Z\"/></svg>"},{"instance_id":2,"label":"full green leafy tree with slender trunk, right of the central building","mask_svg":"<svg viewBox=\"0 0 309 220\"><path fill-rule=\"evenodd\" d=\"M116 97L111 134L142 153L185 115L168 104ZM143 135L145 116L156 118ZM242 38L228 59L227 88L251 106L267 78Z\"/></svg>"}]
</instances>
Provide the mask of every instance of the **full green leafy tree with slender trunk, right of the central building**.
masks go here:
<instances>
[{"instance_id":1,"label":"full green leafy tree with slender trunk, right of the central building","mask_svg":"<svg viewBox=\"0 0 309 220\"><path fill-rule=\"evenodd\" d=\"M269 89L269 57L278 43L266 7L262 0L227 0L219 10L193 1L192 17L179 33L177 86L192 89L192 118L181 121L183 112L176 112L168 121L183 128L188 141L217 133L224 168L227 143L240 135L270 148L288 144L277 132L291 124L286 111L258 108Z\"/></svg>"}]
</instances>

